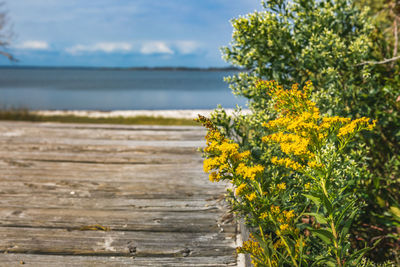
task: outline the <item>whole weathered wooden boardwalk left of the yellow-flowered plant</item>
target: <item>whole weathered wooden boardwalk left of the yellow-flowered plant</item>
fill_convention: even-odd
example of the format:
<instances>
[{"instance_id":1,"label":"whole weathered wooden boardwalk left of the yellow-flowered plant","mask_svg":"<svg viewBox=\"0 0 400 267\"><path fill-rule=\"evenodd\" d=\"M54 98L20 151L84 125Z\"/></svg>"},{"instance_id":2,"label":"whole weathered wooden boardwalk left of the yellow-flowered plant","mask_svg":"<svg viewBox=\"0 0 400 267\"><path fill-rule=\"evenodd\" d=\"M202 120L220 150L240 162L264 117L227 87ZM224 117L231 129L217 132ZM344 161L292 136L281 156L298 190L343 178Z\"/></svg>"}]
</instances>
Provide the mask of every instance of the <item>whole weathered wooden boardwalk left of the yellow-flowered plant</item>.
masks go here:
<instances>
[{"instance_id":1,"label":"whole weathered wooden boardwalk left of the yellow-flowered plant","mask_svg":"<svg viewBox=\"0 0 400 267\"><path fill-rule=\"evenodd\" d=\"M237 266L204 134L0 122L0 266Z\"/></svg>"}]
</instances>

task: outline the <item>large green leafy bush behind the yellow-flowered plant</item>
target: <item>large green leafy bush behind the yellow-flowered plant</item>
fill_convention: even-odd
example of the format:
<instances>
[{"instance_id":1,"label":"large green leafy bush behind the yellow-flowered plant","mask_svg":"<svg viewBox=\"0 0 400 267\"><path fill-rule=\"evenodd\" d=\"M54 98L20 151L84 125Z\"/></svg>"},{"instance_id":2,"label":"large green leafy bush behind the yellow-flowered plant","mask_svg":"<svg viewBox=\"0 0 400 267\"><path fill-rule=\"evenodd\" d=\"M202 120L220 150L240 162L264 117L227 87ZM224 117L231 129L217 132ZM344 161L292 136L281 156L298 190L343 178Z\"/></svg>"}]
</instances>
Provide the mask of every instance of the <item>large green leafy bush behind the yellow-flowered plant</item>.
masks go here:
<instances>
[{"instance_id":1,"label":"large green leafy bush behind the yellow-flowered plant","mask_svg":"<svg viewBox=\"0 0 400 267\"><path fill-rule=\"evenodd\" d=\"M357 181L356 194L367 206L356 216L351 235L353 245L360 248L384 236L370 255L384 260L398 257L399 249L400 64L382 63L395 55L394 34L382 33L390 27L391 17L381 15L390 11L388 3L393 1L368 1L269 0L262 2L263 11L232 20L233 40L222 49L224 58L247 72L226 80L235 94L249 99L253 114L229 118L219 110L212 120L260 163L276 153L261 141L267 134L261 122L275 118L276 112L270 96L256 86L260 79L274 79L284 86L311 80L312 97L321 112L377 119L372 133L358 136L367 144L362 150L368 154L360 147L348 152L367 159L372 173ZM375 4L364 8L367 2Z\"/></svg>"}]
</instances>

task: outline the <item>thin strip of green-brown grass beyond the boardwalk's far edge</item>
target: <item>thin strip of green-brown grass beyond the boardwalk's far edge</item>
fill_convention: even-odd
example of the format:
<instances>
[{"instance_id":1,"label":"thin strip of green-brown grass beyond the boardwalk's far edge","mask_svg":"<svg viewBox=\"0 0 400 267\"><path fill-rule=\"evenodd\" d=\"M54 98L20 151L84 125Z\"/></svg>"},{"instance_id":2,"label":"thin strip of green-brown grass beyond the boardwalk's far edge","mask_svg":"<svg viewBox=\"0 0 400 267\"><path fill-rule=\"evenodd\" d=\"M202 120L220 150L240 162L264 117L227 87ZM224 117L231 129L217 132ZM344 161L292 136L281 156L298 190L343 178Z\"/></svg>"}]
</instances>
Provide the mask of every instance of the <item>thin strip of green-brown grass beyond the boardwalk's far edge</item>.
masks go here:
<instances>
[{"instance_id":1,"label":"thin strip of green-brown grass beyond the boardwalk's far edge","mask_svg":"<svg viewBox=\"0 0 400 267\"><path fill-rule=\"evenodd\" d=\"M0 120L7 121L36 121L36 122L62 122L62 123L104 123L104 124L127 124L127 125L185 125L199 126L192 119L176 119L152 116L135 117L109 117L91 118L74 115L43 116L29 112L28 110L0 110Z\"/></svg>"}]
</instances>

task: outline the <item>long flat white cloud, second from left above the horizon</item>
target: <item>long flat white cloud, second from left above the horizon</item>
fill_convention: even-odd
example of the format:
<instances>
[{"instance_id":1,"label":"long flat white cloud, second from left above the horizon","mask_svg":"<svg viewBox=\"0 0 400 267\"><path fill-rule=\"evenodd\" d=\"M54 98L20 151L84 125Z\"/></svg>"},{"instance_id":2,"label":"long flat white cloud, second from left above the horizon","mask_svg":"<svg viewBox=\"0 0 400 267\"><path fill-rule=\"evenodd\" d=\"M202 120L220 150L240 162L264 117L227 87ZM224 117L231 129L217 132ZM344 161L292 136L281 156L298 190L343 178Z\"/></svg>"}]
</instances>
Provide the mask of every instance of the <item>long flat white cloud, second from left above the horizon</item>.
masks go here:
<instances>
[{"instance_id":1,"label":"long flat white cloud, second from left above the horizon","mask_svg":"<svg viewBox=\"0 0 400 267\"><path fill-rule=\"evenodd\" d=\"M77 54L80 52L128 52L131 51L133 45L126 42L116 42L116 43L95 43L93 45L75 45L66 49L68 53Z\"/></svg>"}]
</instances>

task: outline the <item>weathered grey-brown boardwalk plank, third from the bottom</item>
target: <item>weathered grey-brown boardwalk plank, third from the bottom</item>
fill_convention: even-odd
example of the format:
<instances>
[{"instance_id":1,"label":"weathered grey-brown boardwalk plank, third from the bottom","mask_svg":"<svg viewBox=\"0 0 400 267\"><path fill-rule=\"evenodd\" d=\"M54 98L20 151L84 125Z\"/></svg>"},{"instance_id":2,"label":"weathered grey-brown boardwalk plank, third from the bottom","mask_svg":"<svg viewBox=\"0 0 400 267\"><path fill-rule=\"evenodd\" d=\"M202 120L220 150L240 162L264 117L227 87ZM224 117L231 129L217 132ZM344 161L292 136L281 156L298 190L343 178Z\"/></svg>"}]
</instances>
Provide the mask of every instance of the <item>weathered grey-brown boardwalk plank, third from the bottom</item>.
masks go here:
<instances>
[{"instance_id":1,"label":"weathered grey-brown boardwalk plank, third from the bottom","mask_svg":"<svg viewBox=\"0 0 400 267\"><path fill-rule=\"evenodd\" d=\"M234 232L222 225L218 209L203 211L126 211L53 208L0 208L0 226L79 229L100 224L120 231Z\"/></svg>"}]
</instances>

